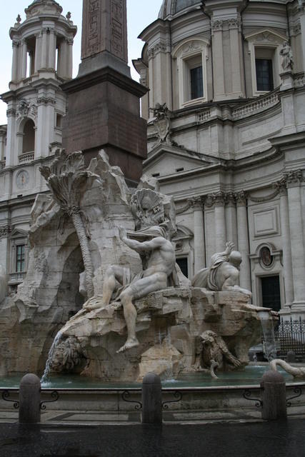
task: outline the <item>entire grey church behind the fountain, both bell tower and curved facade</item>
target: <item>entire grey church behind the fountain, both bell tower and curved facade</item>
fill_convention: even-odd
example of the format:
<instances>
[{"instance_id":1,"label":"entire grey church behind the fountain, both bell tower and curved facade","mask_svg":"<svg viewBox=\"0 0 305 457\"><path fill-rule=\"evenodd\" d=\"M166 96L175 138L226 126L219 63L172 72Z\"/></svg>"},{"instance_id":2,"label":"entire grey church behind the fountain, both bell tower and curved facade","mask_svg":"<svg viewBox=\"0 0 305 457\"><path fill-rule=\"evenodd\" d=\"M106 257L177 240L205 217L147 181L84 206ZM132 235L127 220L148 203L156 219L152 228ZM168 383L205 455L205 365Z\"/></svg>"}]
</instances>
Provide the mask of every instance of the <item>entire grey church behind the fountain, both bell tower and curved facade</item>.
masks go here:
<instances>
[{"instance_id":1,"label":"entire grey church behind the fountain, both bell tower and curved facade","mask_svg":"<svg viewBox=\"0 0 305 457\"><path fill-rule=\"evenodd\" d=\"M26 273L39 167L61 146L76 26L35 0L10 30L0 126L0 253ZM164 0L134 60L148 121L144 172L174 196L176 256L191 278L234 241L257 305L305 317L305 1Z\"/></svg>"}]
</instances>

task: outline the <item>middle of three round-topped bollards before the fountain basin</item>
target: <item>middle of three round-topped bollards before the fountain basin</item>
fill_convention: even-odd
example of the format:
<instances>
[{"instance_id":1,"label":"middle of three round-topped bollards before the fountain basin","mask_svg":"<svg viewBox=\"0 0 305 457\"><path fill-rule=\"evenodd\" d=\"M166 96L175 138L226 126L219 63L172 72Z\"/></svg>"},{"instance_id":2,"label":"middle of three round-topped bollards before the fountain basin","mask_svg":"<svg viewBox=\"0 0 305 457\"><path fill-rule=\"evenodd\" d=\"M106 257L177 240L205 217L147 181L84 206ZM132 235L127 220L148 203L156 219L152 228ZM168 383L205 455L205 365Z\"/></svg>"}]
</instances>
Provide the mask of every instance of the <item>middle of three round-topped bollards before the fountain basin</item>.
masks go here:
<instances>
[{"instance_id":1,"label":"middle of three round-topped bollards before the fountain basin","mask_svg":"<svg viewBox=\"0 0 305 457\"><path fill-rule=\"evenodd\" d=\"M148 373L142 383L142 423L162 423L162 387L159 376Z\"/></svg>"}]
</instances>

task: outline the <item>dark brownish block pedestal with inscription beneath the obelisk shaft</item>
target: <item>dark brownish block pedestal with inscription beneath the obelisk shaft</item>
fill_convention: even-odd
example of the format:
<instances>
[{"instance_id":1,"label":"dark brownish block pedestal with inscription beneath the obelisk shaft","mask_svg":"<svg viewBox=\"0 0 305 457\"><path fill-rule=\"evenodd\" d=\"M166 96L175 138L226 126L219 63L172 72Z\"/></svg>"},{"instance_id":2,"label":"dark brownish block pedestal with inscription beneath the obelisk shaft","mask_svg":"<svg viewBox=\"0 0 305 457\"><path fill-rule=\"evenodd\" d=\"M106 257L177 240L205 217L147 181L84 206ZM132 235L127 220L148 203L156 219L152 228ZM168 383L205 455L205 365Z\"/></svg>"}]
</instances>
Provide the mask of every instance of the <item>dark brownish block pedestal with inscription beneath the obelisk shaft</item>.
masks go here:
<instances>
[{"instance_id":1,"label":"dark brownish block pedestal with inscription beneath the obelisk shaft","mask_svg":"<svg viewBox=\"0 0 305 457\"><path fill-rule=\"evenodd\" d=\"M61 86L68 95L63 146L66 153L83 151L86 165L100 149L118 165L127 180L138 182L146 159L146 121L139 99L147 89L110 67Z\"/></svg>"}]
</instances>

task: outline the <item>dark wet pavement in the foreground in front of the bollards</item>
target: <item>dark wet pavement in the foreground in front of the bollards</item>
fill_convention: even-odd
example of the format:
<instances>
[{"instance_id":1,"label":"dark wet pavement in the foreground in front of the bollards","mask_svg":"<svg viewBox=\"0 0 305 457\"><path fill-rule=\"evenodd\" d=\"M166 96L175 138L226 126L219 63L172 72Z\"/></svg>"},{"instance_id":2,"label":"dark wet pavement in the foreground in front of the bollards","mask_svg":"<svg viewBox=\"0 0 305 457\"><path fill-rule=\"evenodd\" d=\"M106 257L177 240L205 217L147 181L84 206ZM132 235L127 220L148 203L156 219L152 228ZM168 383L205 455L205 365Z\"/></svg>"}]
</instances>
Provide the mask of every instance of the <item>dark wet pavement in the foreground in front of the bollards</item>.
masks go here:
<instances>
[{"instance_id":1,"label":"dark wet pavement in the foreground in front of the bollards","mask_svg":"<svg viewBox=\"0 0 305 457\"><path fill-rule=\"evenodd\" d=\"M305 420L157 426L0 424L1 457L305 457Z\"/></svg>"}]
</instances>

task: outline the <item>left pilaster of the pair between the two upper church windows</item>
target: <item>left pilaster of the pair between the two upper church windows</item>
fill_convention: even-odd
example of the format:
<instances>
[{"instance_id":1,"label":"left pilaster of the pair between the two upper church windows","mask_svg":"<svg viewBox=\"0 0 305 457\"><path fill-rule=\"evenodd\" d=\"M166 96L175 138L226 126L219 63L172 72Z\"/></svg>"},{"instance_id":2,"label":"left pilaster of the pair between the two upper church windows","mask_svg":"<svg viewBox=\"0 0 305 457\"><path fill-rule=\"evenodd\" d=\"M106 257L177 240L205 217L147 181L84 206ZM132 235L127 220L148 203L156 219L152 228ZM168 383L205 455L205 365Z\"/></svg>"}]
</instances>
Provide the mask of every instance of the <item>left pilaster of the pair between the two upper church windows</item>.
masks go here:
<instances>
[{"instance_id":1,"label":"left pilaster of the pair between the two upper church windows","mask_svg":"<svg viewBox=\"0 0 305 457\"><path fill-rule=\"evenodd\" d=\"M223 21L211 22L213 41L213 67L214 67L214 100L224 98L224 48L222 43Z\"/></svg>"}]
</instances>

